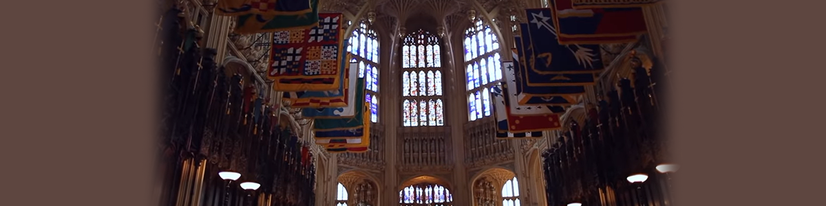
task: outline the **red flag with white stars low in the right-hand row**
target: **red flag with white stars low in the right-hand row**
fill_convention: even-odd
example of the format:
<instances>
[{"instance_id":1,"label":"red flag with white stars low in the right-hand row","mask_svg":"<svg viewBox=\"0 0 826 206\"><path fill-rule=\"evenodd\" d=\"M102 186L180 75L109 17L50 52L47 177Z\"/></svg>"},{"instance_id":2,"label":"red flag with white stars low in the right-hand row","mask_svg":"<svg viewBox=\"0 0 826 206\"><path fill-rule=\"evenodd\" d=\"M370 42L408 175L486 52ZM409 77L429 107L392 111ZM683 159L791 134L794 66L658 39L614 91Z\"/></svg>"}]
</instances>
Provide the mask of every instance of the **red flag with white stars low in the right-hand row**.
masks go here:
<instances>
[{"instance_id":1,"label":"red flag with white stars low in the right-hand row","mask_svg":"<svg viewBox=\"0 0 826 206\"><path fill-rule=\"evenodd\" d=\"M539 138L544 130L561 128L556 112L559 109L564 111L561 106L534 108L531 115L513 115L510 113L509 101L515 101L515 96L509 96L506 90L505 85L491 87L496 117L496 138Z\"/></svg>"}]
</instances>

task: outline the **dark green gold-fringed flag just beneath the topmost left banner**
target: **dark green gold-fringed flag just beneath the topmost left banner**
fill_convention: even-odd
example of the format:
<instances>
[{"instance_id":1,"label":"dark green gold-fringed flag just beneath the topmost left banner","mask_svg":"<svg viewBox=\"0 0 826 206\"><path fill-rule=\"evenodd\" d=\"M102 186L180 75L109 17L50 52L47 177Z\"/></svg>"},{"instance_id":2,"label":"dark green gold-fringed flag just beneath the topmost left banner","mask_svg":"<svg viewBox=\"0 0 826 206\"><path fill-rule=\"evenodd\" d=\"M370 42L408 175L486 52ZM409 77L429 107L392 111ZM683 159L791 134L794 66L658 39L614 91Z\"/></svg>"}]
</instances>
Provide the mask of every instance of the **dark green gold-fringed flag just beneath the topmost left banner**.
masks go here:
<instances>
[{"instance_id":1,"label":"dark green gold-fringed flag just beneath the topmost left banner","mask_svg":"<svg viewBox=\"0 0 826 206\"><path fill-rule=\"evenodd\" d=\"M296 2L304 2L299 0ZM235 21L235 33L255 34L284 30L304 30L319 25L318 1L310 0L310 11L282 14L244 14Z\"/></svg>"}]
</instances>

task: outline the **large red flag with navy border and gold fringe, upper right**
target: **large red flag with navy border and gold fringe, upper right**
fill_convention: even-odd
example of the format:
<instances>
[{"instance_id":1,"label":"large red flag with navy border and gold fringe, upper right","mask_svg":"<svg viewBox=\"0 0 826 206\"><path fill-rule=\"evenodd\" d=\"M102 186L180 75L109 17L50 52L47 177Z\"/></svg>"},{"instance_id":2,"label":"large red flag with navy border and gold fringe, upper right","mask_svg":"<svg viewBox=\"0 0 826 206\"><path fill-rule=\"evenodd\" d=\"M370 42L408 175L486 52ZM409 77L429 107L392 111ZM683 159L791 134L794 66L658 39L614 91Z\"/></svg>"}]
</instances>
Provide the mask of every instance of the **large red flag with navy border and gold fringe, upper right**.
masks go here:
<instances>
[{"instance_id":1,"label":"large red flag with navy border and gold fringe, upper right","mask_svg":"<svg viewBox=\"0 0 826 206\"><path fill-rule=\"evenodd\" d=\"M551 0L551 8L538 15L550 15L559 44L619 44L637 40L646 33L641 7L574 8L572 0Z\"/></svg>"}]
</instances>

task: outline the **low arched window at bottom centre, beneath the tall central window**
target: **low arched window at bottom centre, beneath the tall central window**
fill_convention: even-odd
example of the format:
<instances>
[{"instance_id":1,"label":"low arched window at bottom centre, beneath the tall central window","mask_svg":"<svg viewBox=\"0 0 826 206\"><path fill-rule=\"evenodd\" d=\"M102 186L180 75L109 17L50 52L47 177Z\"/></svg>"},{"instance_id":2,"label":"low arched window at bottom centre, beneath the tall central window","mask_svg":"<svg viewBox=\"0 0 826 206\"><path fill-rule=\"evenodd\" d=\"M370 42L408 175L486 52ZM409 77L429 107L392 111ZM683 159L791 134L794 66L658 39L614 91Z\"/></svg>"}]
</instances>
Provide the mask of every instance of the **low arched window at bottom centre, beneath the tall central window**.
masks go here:
<instances>
[{"instance_id":1,"label":"low arched window at bottom centre, beneath the tall central window","mask_svg":"<svg viewBox=\"0 0 826 206\"><path fill-rule=\"evenodd\" d=\"M399 191L400 206L452 206L453 194L442 185L410 185Z\"/></svg>"}]
</instances>

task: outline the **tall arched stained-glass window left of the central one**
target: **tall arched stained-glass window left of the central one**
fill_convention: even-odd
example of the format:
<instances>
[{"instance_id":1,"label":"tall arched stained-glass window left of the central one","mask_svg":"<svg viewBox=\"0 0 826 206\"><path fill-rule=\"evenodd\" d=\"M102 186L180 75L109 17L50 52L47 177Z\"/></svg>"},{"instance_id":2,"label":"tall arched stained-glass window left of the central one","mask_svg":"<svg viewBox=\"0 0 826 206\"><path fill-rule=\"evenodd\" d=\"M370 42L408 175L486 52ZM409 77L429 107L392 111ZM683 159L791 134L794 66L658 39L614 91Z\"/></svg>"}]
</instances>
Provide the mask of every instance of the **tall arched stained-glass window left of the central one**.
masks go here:
<instances>
[{"instance_id":1,"label":"tall arched stained-glass window left of the central one","mask_svg":"<svg viewBox=\"0 0 826 206\"><path fill-rule=\"evenodd\" d=\"M370 105L370 121L378 122L378 40L376 32L363 22L350 35L347 51L353 54L351 63L358 63L358 77L364 78L366 101Z\"/></svg>"}]
</instances>

